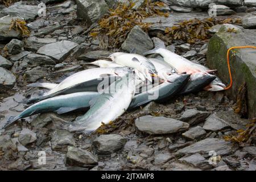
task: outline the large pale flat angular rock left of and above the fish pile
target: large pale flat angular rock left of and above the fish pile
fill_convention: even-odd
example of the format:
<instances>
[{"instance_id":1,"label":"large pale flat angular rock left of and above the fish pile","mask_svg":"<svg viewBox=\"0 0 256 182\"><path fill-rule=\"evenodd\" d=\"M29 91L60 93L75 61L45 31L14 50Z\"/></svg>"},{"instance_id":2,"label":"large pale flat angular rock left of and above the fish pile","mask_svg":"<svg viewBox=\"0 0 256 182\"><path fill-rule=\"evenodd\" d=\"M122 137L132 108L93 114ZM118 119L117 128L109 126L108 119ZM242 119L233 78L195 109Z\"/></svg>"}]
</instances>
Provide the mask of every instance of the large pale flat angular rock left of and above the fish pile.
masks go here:
<instances>
[{"instance_id":1,"label":"large pale flat angular rock left of and above the fish pile","mask_svg":"<svg viewBox=\"0 0 256 182\"><path fill-rule=\"evenodd\" d=\"M57 61L63 61L78 44L69 40L63 40L56 43L46 44L38 49L39 54L46 55L56 59Z\"/></svg>"}]
</instances>

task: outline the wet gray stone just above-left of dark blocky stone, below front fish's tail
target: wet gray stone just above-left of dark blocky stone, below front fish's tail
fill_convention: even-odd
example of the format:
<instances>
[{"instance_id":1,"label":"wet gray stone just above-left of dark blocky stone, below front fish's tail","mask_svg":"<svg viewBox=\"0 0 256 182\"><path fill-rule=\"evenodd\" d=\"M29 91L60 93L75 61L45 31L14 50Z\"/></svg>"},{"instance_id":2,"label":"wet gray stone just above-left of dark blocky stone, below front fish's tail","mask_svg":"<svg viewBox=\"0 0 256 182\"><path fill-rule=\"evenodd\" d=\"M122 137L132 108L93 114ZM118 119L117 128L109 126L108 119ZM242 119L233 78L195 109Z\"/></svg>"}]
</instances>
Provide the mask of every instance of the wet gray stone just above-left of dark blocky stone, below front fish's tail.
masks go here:
<instances>
[{"instance_id":1,"label":"wet gray stone just above-left of dark blocky stone, below front fish's tail","mask_svg":"<svg viewBox=\"0 0 256 182\"><path fill-rule=\"evenodd\" d=\"M75 138L67 130L55 130L51 139L52 150L67 151L68 146L75 146Z\"/></svg>"}]
</instances>

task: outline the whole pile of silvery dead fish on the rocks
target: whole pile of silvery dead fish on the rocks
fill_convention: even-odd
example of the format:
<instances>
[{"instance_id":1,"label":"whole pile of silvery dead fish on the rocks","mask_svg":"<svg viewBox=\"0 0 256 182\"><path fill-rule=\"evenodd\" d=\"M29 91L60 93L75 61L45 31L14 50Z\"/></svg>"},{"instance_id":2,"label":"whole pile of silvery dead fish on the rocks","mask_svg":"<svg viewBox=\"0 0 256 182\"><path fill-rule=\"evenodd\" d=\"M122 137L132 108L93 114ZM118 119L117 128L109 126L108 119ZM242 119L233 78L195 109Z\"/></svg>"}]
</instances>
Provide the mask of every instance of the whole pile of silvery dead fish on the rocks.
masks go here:
<instances>
[{"instance_id":1,"label":"whole pile of silvery dead fish on the rocks","mask_svg":"<svg viewBox=\"0 0 256 182\"><path fill-rule=\"evenodd\" d=\"M49 91L28 99L26 103L32 105L11 117L5 127L34 114L52 111L63 114L89 108L66 128L75 133L90 134L102 123L114 121L127 109L150 101L167 101L202 89L224 90L225 85L210 75L213 70L168 51L160 39L153 40L155 49L144 53L144 56L135 52L115 52L104 60L86 63L99 68L77 72L59 84L38 82L27 85ZM158 53L162 59L145 57L153 53Z\"/></svg>"}]
</instances>

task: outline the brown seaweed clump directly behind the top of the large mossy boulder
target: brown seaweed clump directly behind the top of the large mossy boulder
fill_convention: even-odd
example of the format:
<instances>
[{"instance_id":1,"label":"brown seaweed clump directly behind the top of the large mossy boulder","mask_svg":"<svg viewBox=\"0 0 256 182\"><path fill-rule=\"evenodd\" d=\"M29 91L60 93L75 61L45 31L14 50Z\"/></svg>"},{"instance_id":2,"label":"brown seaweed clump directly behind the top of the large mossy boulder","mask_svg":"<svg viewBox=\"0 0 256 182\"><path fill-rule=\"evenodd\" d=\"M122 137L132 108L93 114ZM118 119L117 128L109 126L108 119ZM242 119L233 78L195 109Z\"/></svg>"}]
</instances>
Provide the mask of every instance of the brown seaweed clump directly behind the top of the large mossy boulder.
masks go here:
<instances>
[{"instance_id":1,"label":"brown seaweed clump directly behind the top of the large mossy boulder","mask_svg":"<svg viewBox=\"0 0 256 182\"><path fill-rule=\"evenodd\" d=\"M209 33L209 28L216 24L233 23L240 24L241 19L190 19L175 24L175 26L167 27L165 30L166 36L171 40L184 40L187 43L194 44L199 41L208 40L212 35ZM228 30L234 32L234 30Z\"/></svg>"}]
</instances>

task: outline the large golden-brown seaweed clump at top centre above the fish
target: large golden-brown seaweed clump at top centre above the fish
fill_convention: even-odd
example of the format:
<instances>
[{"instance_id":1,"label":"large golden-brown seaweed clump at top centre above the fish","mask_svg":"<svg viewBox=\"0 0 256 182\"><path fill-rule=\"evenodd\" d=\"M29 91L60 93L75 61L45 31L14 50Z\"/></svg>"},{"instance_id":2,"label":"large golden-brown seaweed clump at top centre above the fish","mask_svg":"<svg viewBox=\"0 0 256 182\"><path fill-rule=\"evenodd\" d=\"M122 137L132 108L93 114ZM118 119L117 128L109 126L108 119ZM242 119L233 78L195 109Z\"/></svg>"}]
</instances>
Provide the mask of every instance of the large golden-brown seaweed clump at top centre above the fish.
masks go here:
<instances>
[{"instance_id":1,"label":"large golden-brown seaweed clump at top centre above the fish","mask_svg":"<svg viewBox=\"0 0 256 182\"><path fill-rule=\"evenodd\" d=\"M94 28L90 35L93 37L107 35L109 44L119 47L134 26L138 25L147 32L150 24L143 23L142 19L155 15L168 16L168 13L159 10L159 7L165 6L163 2L145 1L137 10L134 6L135 3L132 1L119 3L115 9L109 10L109 14L100 20L100 26Z\"/></svg>"}]
</instances>

